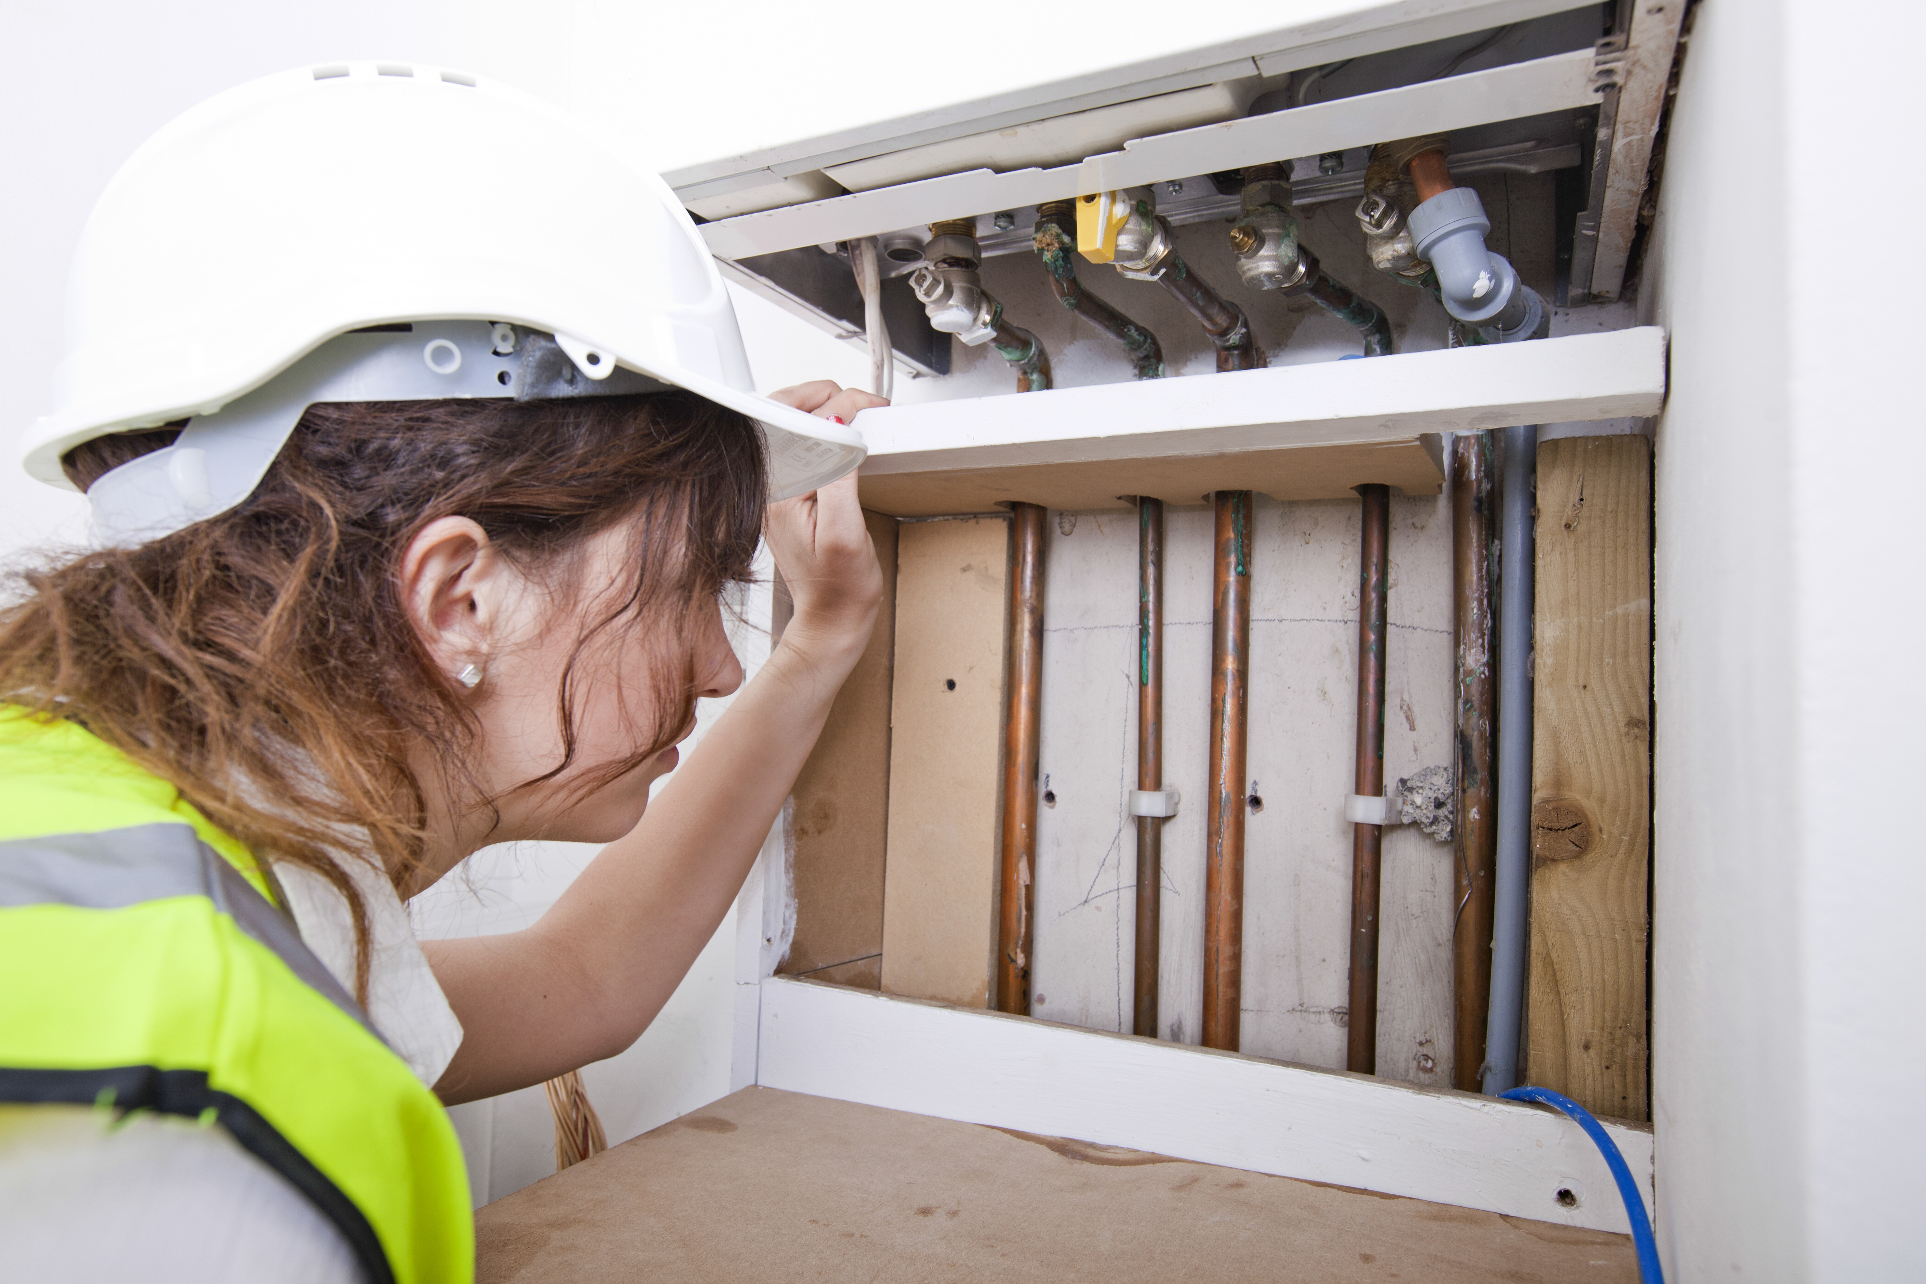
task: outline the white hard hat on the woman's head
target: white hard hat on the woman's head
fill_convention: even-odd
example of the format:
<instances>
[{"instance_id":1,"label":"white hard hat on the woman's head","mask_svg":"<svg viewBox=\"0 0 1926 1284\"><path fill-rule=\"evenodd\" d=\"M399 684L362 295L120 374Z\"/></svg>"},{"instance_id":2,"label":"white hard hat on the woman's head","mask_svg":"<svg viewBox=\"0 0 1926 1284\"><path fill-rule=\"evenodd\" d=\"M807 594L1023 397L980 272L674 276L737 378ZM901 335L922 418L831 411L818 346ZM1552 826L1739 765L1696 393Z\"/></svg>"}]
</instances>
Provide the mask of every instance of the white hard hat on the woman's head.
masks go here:
<instances>
[{"instance_id":1,"label":"white hard hat on the woman's head","mask_svg":"<svg viewBox=\"0 0 1926 1284\"><path fill-rule=\"evenodd\" d=\"M191 418L91 489L96 533L154 537L247 499L316 400L663 383L763 425L776 499L863 460L855 429L753 391L695 225L607 131L455 71L304 67L202 102L114 175L23 462L71 489L75 445Z\"/></svg>"}]
</instances>

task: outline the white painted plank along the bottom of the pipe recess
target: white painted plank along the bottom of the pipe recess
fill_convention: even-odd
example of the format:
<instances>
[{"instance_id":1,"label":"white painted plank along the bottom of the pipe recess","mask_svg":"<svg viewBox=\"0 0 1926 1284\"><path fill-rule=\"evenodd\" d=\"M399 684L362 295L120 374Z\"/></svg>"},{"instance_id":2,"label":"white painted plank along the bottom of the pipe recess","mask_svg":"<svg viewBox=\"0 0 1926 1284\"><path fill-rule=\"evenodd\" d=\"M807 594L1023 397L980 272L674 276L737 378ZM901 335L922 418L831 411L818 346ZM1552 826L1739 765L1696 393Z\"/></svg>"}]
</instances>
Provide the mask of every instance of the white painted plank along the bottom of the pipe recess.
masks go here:
<instances>
[{"instance_id":1,"label":"white painted plank along the bottom of the pipe recess","mask_svg":"<svg viewBox=\"0 0 1926 1284\"><path fill-rule=\"evenodd\" d=\"M1495 1097L786 976L761 986L755 1065L765 1088L1629 1230L1577 1124ZM1651 1130L1604 1128L1651 1209Z\"/></svg>"}]
</instances>

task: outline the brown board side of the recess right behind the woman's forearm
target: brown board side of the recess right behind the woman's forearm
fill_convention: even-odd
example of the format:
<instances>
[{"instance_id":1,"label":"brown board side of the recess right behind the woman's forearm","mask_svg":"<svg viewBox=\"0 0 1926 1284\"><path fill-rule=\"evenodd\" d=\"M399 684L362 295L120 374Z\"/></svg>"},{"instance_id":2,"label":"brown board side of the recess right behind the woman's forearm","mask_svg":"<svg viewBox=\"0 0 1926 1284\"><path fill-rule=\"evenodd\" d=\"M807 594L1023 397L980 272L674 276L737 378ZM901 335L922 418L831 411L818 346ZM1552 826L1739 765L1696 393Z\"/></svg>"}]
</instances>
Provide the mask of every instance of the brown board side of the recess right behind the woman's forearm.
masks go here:
<instances>
[{"instance_id":1,"label":"brown board side of the recess right behind the woman's forearm","mask_svg":"<svg viewBox=\"0 0 1926 1284\"><path fill-rule=\"evenodd\" d=\"M882 564L869 649L844 681L790 810L795 937L778 968L842 986L882 984L882 884L896 670L896 518L865 512Z\"/></svg>"}]
</instances>

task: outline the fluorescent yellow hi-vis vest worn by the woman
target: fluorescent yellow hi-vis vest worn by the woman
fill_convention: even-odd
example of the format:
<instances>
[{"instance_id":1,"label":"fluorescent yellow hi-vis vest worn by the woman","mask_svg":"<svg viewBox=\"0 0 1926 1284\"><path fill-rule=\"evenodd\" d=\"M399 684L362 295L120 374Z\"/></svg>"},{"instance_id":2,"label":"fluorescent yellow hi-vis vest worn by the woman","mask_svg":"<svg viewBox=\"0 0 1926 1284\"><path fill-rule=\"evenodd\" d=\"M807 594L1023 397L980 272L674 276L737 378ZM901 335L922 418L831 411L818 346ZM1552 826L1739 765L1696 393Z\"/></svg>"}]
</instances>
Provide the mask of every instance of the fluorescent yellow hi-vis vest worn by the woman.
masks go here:
<instances>
[{"instance_id":1,"label":"fluorescent yellow hi-vis vest worn by the woman","mask_svg":"<svg viewBox=\"0 0 1926 1284\"><path fill-rule=\"evenodd\" d=\"M447 1111L248 851L91 732L19 706L0 706L0 1103L218 1124L374 1284L474 1278Z\"/></svg>"}]
</instances>

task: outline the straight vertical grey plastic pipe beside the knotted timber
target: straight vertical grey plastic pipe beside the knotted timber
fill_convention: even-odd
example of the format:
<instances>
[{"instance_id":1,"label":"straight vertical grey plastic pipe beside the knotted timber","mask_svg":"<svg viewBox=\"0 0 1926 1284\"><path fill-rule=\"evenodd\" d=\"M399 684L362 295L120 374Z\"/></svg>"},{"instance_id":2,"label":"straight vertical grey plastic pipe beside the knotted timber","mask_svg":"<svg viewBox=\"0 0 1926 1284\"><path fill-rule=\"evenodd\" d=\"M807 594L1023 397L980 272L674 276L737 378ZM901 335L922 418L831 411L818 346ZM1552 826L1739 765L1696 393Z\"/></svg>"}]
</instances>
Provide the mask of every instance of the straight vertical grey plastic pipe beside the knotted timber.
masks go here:
<instances>
[{"instance_id":1,"label":"straight vertical grey plastic pipe beside the knotted timber","mask_svg":"<svg viewBox=\"0 0 1926 1284\"><path fill-rule=\"evenodd\" d=\"M1485 1093L1518 1086L1525 1005L1531 880L1531 504L1539 425L1506 427L1498 499L1498 849L1493 870L1491 1009L1485 1016Z\"/></svg>"}]
</instances>

